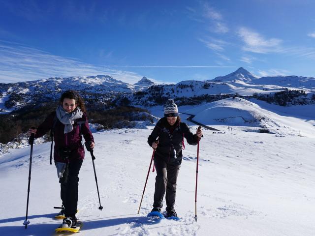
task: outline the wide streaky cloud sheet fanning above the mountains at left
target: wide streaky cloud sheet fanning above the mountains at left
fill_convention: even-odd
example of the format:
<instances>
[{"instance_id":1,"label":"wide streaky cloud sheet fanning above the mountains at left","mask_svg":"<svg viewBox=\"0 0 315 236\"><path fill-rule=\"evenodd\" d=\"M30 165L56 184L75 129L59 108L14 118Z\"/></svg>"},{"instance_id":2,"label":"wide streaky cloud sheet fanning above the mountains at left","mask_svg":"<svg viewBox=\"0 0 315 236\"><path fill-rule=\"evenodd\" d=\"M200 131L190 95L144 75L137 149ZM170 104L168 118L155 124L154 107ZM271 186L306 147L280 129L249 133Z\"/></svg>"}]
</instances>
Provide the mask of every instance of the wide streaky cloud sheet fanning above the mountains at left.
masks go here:
<instances>
[{"instance_id":1,"label":"wide streaky cloud sheet fanning above the mountains at left","mask_svg":"<svg viewBox=\"0 0 315 236\"><path fill-rule=\"evenodd\" d=\"M134 72L92 65L77 59L52 55L22 44L0 40L0 82L2 83L99 74L107 74L131 84L142 78Z\"/></svg>"}]
</instances>

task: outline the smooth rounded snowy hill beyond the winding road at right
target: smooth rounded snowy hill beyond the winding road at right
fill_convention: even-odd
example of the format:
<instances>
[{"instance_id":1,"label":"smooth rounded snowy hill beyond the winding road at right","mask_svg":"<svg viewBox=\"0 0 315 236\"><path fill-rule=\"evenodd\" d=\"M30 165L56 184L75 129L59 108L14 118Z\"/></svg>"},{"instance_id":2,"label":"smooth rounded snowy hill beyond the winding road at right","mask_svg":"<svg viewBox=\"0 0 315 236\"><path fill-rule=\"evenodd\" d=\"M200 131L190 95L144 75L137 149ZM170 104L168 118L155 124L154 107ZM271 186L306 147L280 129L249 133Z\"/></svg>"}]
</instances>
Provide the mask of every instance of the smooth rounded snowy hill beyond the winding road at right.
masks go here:
<instances>
[{"instance_id":1,"label":"smooth rounded snowy hill beyond the winding road at right","mask_svg":"<svg viewBox=\"0 0 315 236\"><path fill-rule=\"evenodd\" d=\"M260 107L258 104L262 107ZM308 108L305 110L305 108ZM278 110L284 108L268 104L263 101L242 98L226 98L212 103L184 110L188 114L195 115L193 120L206 125L237 125L248 127L267 128L271 132L281 135L302 135L315 138L315 113L314 105L295 106L295 109L286 108L290 115ZM184 112L182 111L182 112ZM304 111L303 115L298 115ZM306 111L307 114L305 113ZM295 115L293 115L295 114ZM292 117L291 117L292 116ZM308 117L305 117L308 116ZM246 127L245 129L248 129Z\"/></svg>"}]
</instances>

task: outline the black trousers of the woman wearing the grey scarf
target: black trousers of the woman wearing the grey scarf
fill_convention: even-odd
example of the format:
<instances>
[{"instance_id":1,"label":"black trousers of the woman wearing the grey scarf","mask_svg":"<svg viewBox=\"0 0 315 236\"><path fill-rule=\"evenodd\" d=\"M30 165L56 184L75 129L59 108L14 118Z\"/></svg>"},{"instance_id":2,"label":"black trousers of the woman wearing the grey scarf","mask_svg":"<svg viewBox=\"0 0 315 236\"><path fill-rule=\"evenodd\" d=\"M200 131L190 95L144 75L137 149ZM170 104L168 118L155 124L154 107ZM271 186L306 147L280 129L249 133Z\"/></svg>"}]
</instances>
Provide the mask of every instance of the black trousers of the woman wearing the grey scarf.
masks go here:
<instances>
[{"instance_id":1,"label":"black trousers of the woman wearing the grey scarf","mask_svg":"<svg viewBox=\"0 0 315 236\"><path fill-rule=\"evenodd\" d=\"M59 179L61 191L60 197L63 201L64 215L75 216L78 207L79 171L83 160L71 160L65 168L63 177Z\"/></svg>"}]
</instances>

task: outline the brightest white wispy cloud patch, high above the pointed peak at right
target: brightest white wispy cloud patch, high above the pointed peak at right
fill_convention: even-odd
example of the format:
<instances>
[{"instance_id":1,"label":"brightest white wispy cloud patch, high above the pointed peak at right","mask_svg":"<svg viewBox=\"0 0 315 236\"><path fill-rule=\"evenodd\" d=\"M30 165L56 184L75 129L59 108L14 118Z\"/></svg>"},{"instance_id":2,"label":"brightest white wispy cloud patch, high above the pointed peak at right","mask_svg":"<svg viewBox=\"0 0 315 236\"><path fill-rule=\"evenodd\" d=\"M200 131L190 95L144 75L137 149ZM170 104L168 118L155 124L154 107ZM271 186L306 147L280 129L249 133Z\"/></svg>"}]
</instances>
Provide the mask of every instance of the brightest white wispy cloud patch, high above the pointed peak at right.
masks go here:
<instances>
[{"instance_id":1,"label":"brightest white wispy cloud patch, high above the pointed peak at right","mask_svg":"<svg viewBox=\"0 0 315 236\"><path fill-rule=\"evenodd\" d=\"M238 35L241 37L245 45L243 46L244 51L253 53L271 53L281 52L281 44L283 40L278 38L265 39L259 33L242 27L238 30Z\"/></svg>"}]
</instances>

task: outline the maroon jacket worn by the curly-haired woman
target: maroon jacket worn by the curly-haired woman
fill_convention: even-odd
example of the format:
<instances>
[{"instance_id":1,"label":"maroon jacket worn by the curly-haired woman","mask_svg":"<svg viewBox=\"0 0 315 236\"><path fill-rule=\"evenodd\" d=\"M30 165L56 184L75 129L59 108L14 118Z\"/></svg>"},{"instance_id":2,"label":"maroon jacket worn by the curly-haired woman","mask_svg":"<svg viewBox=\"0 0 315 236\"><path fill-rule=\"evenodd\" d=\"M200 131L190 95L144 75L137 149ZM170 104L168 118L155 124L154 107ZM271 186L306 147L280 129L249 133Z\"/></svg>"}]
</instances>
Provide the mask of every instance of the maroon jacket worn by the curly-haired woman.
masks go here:
<instances>
[{"instance_id":1,"label":"maroon jacket worn by the curly-haired woman","mask_svg":"<svg viewBox=\"0 0 315 236\"><path fill-rule=\"evenodd\" d=\"M54 118L56 117L56 112L52 112L42 124L37 128L34 138L39 138L51 130L54 124ZM65 162L63 158L59 156L59 148L67 147L71 150L69 161L73 159L84 159L84 147L82 146L82 136L80 135L80 125L81 124L81 134L83 135L85 141L94 142L93 135L90 131L88 119L84 113L82 118L74 120L73 130L67 134L64 134L64 124L59 121L56 117L57 122L54 128L54 160L58 162Z\"/></svg>"}]
</instances>

